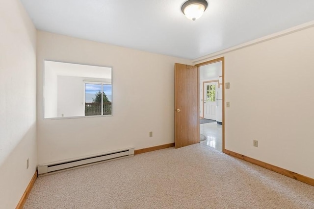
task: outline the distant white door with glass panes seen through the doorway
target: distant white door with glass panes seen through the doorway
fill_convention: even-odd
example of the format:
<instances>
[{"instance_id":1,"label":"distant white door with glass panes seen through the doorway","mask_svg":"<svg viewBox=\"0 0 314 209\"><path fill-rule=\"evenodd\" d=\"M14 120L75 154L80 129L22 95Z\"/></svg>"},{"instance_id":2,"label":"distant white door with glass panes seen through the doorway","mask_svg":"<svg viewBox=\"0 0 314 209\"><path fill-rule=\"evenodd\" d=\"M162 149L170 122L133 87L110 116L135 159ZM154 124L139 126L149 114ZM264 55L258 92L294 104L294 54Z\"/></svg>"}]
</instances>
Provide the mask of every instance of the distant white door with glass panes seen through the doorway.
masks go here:
<instances>
[{"instance_id":1,"label":"distant white door with glass panes seen through the doorway","mask_svg":"<svg viewBox=\"0 0 314 209\"><path fill-rule=\"evenodd\" d=\"M204 83L204 118L216 120L216 90L218 82Z\"/></svg>"}]
</instances>

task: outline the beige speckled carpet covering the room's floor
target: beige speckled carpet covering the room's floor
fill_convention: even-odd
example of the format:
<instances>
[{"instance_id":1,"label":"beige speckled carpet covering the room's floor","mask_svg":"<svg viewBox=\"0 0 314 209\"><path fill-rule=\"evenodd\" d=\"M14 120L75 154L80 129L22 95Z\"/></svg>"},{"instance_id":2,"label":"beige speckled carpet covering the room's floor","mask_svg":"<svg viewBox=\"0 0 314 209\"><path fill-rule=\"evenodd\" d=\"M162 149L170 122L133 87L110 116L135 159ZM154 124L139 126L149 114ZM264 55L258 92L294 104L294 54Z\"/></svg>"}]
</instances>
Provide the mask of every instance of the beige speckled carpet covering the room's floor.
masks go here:
<instances>
[{"instance_id":1,"label":"beige speckled carpet covering the room's floor","mask_svg":"<svg viewBox=\"0 0 314 209\"><path fill-rule=\"evenodd\" d=\"M25 209L314 209L314 186L206 145L39 177Z\"/></svg>"}]
</instances>

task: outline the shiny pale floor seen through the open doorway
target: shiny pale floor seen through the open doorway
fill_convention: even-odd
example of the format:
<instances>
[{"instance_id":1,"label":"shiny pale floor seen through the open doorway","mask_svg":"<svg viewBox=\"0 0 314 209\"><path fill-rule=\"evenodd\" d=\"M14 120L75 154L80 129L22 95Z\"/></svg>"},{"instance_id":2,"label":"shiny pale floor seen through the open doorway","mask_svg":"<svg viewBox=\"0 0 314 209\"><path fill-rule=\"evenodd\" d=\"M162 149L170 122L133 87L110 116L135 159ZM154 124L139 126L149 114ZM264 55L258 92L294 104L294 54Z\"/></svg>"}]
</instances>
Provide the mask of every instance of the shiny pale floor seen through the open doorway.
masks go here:
<instances>
[{"instance_id":1,"label":"shiny pale floor seen through the open doorway","mask_svg":"<svg viewBox=\"0 0 314 209\"><path fill-rule=\"evenodd\" d=\"M222 125L216 122L200 124L200 134L206 137L206 140L200 143L222 152Z\"/></svg>"}]
</instances>

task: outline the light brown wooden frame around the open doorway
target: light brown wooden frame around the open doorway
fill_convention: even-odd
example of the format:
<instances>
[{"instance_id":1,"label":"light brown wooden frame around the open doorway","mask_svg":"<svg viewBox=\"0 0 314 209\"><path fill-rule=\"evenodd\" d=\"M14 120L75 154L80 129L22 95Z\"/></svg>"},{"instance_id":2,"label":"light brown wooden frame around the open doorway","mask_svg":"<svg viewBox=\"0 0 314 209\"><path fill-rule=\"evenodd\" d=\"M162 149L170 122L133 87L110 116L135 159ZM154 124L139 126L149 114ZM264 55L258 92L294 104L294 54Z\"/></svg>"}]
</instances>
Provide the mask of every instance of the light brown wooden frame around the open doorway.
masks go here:
<instances>
[{"instance_id":1,"label":"light brown wooden frame around the open doorway","mask_svg":"<svg viewBox=\"0 0 314 209\"><path fill-rule=\"evenodd\" d=\"M203 63L196 64L198 71L198 80L200 79L200 67L204 65L209 65L212 63L221 62L222 69L221 69L221 76L222 76L222 152L226 153L225 150L225 57L219 57L217 59L209 60ZM200 81L198 81L200 83ZM218 82L218 85L219 82ZM204 87L203 87L204 88ZM198 85L198 95L200 94L200 85ZM203 99L204 100L204 99ZM198 103L200 102L200 98L198 99ZM200 104L198 104L200 106ZM204 106L204 105L203 105ZM200 111L198 111L198 114L200 114ZM203 110L203 116L204 116L204 110ZM200 130L200 124L198 124L198 130Z\"/></svg>"}]
</instances>

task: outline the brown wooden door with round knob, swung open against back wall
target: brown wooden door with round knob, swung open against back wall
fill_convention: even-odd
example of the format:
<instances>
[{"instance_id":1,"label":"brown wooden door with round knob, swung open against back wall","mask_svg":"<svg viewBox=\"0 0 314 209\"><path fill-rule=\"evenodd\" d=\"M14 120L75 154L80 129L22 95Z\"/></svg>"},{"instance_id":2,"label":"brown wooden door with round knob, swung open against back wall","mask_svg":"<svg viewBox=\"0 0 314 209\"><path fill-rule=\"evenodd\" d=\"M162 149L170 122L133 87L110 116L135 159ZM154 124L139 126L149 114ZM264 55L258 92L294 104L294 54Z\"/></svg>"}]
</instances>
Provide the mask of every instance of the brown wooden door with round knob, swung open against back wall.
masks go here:
<instances>
[{"instance_id":1,"label":"brown wooden door with round knob, swung open against back wall","mask_svg":"<svg viewBox=\"0 0 314 209\"><path fill-rule=\"evenodd\" d=\"M175 148L199 142L198 70L175 63Z\"/></svg>"}]
</instances>

